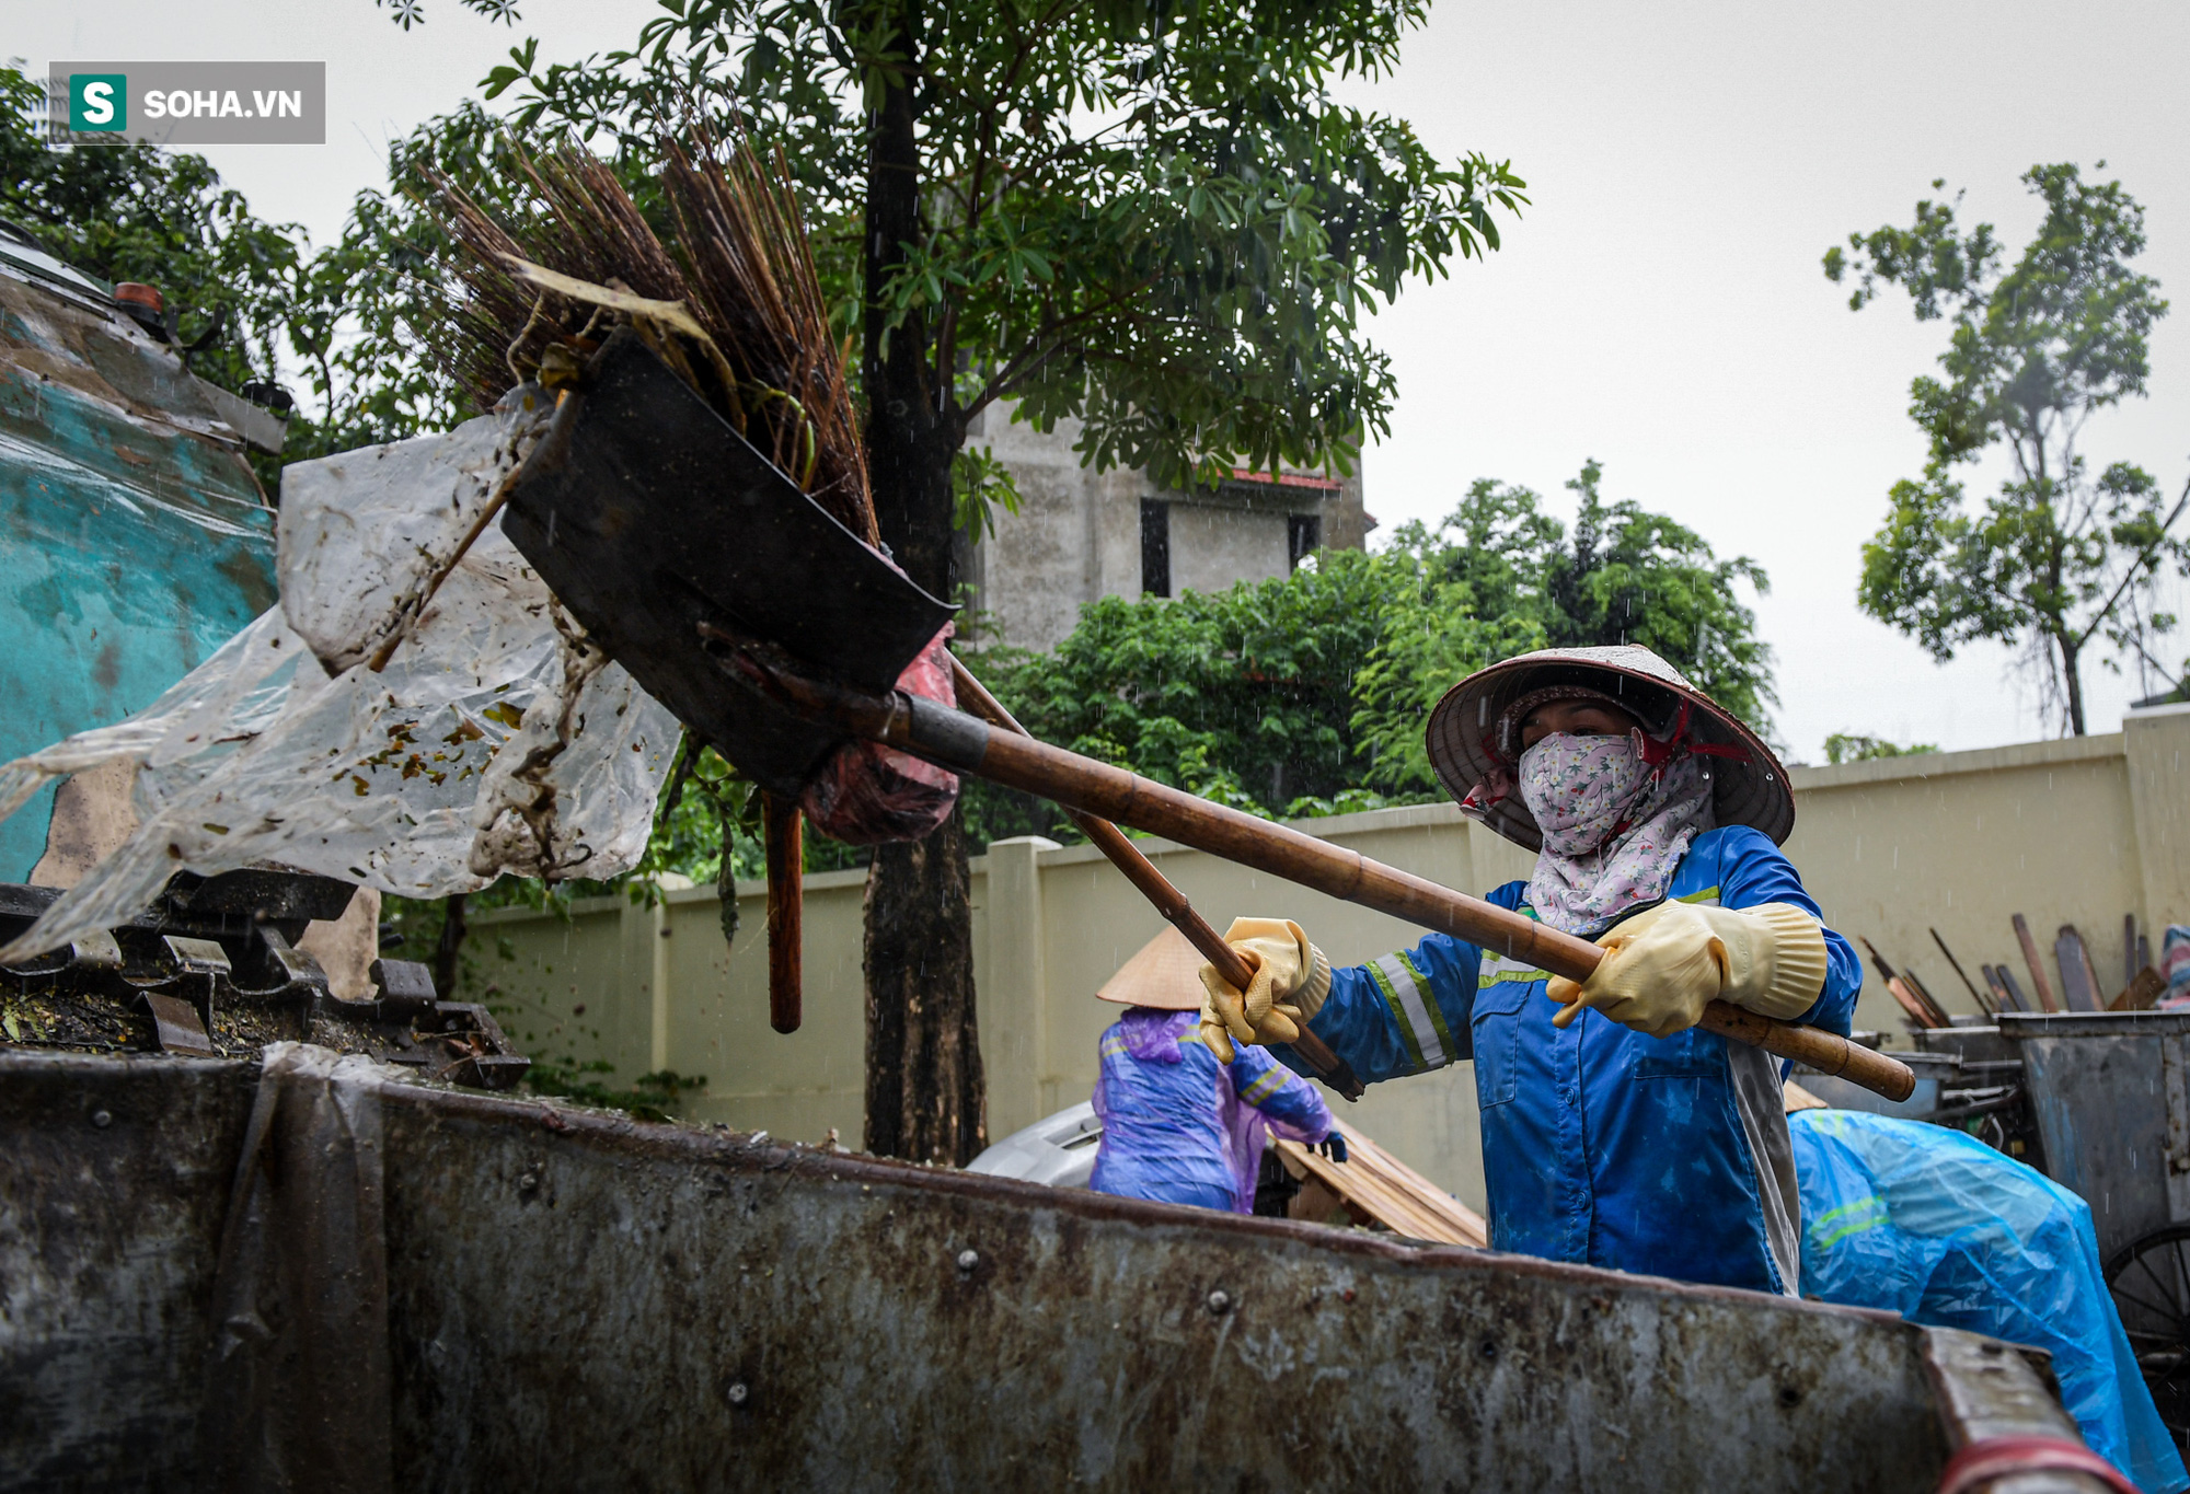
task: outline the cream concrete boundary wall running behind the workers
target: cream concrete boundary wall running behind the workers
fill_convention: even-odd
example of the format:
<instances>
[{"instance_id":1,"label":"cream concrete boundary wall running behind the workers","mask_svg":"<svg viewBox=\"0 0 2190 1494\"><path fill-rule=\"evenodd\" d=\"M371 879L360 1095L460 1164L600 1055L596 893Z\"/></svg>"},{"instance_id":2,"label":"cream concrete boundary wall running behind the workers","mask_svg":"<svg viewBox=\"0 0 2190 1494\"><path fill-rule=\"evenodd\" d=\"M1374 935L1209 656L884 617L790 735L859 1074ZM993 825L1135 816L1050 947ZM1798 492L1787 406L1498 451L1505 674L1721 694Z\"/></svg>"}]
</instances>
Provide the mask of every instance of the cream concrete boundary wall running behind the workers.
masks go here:
<instances>
[{"instance_id":1,"label":"cream concrete boundary wall running behind the workers","mask_svg":"<svg viewBox=\"0 0 2190 1494\"><path fill-rule=\"evenodd\" d=\"M1914 966L1956 1012L1975 1010L1929 929L1978 977L2006 962L2028 986L2008 916L2021 911L2052 953L2074 922L2107 992L2120 988L2122 916L2153 933L2190 922L2190 708L2137 712L2126 729L2065 743L1794 769L1796 832L1787 843L1831 924ZM1483 892L1526 876L1531 857L1459 817L1450 804L1305 821L1367 857ZM1156 865L1222 927L1237 913L1301 920L1340 964L1369 959L1419 931L1167 841L1143 841ZM766 1025L762 887L740 887L745 927L723 949L712 889L666 894L657 909L578 905L563 922L506 909L475 918L473 955L486 999L532 1051L705 1073L692 1113L740 1128L819 1141L861 1135L861 876L806 881L806 1025ZM990 1137L1084 1100L1095 1041L1117 1008L1095 986L1161 922L1091 846L999 841L975 861L975 970ZM2052 977L2052 968L2048 966ZM1866 968L1857 1023L1899 1043L1892 997ZM578 1008L585 1008L583 1012ZM1415 1168L1483 1207L1474 1076L1454 1065L1373 1089L1347 1117Z\"/></svg>"}]
</instances>

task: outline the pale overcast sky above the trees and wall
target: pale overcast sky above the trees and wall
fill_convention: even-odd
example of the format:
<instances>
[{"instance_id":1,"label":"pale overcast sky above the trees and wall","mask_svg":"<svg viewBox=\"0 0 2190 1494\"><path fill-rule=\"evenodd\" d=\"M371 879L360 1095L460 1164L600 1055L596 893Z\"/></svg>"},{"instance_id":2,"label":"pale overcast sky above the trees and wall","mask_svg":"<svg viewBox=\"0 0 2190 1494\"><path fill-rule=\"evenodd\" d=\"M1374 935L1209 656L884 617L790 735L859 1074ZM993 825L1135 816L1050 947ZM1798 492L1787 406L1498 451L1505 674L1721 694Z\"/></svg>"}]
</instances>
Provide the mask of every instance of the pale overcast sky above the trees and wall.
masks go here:
<instances>
[{"instance_id":1,"label":"pale overcast sky above the trees and wall","mask_svg":"<svg viewBox=\"0 0 2190 1494\"><path fill-rule=\"evenodd\" d=\"M324 59L326 147L210 147L263 217L339 232L385 147L451 107L523 35L543 57L626 44L650 4L523 0L512 33L456 0L399 31L370 0L304 7L72 0L9 7L7 53ZM1936 666L1855 609L1859 550L1923 443L1907 381L1945 333L1907 300L1864 313L1818 269L1848 230L1907 221L1945 175L2010 248L2037 223L2017 175L2107 160L2148 208L2142 267L2190 298L2181 85L2190 7L1505 4L1445 0L1397 77L1347 99L1410 118L1441 153L1511 158L1535 206L1487 263L1406 291L1375 335L1399 372L1393 434L1367 460L1386 526L1434 519L1472 478L1564 499L1590 456L1610 497L1671 513L1772 576L1778 736L1953 747L2052 734L2008 655ZM2153 340L2153 397L2100 416L2091 464L2190 475L2190 302ZM2181 657L2183 646L2162 657ZM2091 729L2135 677L2087 668Z\"/></svg>"}]
</instances>

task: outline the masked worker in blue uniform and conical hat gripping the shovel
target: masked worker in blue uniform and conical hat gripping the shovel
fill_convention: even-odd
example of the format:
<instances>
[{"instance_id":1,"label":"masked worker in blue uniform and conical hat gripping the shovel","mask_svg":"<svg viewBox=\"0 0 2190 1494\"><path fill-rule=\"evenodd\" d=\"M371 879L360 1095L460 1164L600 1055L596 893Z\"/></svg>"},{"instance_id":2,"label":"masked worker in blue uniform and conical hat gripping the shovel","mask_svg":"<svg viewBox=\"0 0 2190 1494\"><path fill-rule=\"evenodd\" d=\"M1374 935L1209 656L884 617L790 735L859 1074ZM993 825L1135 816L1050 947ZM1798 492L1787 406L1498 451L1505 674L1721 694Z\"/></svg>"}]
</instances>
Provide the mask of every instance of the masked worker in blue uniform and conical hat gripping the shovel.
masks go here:
<instances>
[{"instance_id":1,"label":"masked worker in blue uniform and conical hat gripping the shovel","mask_svg":"<svg viewBox=\"0 0 2190 1494\"><path fill-rule=\"evenodd\" d=\"M1848 1030L1862 968L1778 850L1787 771L1632 646L1469 675L1428 749L1461 813L1537 852L1489 900L1603 944L1597 973L1575 986L1443 933L1332 970L1299 924L1242 918L1248 990L1200 968L1209 1047L1305 1021L1364 1082L1472 1058L1494 1249L1794 1295L1778 1060L1695 1025L1724 999Z\"/></svg>"}]
</instances>

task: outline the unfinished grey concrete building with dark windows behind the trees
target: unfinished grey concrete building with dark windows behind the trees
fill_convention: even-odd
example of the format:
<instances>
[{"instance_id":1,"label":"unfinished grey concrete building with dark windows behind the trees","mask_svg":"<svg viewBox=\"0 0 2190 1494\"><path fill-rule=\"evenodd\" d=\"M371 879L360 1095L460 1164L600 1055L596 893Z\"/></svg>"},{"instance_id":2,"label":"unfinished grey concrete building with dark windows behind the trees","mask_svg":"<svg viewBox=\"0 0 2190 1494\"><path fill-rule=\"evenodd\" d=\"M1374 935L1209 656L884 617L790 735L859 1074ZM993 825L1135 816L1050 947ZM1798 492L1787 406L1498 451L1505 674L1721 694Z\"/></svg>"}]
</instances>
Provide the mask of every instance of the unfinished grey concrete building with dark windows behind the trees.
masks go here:
<instances>
[{"instance_id":1,"label":"unfinished grey concrete building with dark windows behind the trees","mask_svg":"<svg viewBox=\"0 0 2190 1494\"><path fill-rule=\"evenodd\" d=\"M968 445L1012 469L1021 510L968 545L961 574L977 627L1021 648L1056 648L1102 596L1222 591L1286 576L1316 550L1360 550L1375 526L1360 473L1248 473L1215 489L1163 489L1145 471L1082 467L1077 421L1036 432L1010 407L975 418Z\"/></svg>"}]
</instances>

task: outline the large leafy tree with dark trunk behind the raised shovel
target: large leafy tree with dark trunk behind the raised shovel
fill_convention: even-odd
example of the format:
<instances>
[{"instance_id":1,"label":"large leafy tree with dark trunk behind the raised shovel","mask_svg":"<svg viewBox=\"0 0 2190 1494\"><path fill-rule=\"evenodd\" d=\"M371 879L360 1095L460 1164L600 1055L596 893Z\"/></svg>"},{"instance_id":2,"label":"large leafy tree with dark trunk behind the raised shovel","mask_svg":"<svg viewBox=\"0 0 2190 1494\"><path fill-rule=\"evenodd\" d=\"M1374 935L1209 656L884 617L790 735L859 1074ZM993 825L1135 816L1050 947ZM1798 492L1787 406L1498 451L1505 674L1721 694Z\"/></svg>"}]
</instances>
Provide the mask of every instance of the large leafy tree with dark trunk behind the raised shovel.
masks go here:
<instances>
[{"instance_id":1,"label":"large leafy tree with dark trunk behind the raised shovel","mask_svg":"<svg viewBox=\"0 0 2190 1494\"><path fill-rule=\"evenodd\" d=\"M512 53L523 125L644 158L688 110L786 151L858 337L874 506L953 596L953 473L994 401L1159 480L1345 464L1384 429L1358 318L1498 241L1520 182L1439 164L1329 101L1397 59L1424 0L668 0L637 48ZM994 473L992 467L986 471ZM983 1141L966 828L885 846L867 883L867 1148Z\"/></svg>"}]
</instances>

